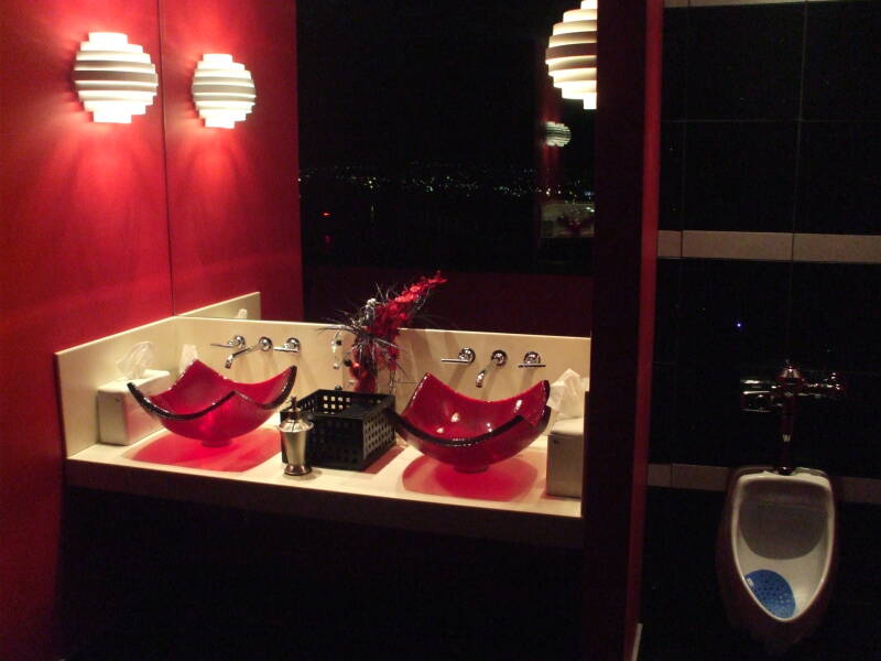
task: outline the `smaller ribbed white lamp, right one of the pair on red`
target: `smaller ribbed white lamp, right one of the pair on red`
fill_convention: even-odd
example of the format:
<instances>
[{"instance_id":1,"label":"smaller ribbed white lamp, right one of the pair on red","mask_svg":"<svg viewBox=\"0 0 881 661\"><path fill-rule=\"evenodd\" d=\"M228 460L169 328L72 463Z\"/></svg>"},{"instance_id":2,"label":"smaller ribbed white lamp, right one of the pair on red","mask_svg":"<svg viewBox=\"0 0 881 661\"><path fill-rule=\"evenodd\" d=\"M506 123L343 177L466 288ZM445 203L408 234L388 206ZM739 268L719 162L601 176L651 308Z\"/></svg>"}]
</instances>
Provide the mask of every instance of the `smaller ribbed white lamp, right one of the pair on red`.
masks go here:
<instances>
[{"instance_id":1,"label":"smaller ribbed white lamp, right one of the pair on red","mask_svg":"<svg viewBox=\"0 0 881 661\"><path fill-rule=\"evenodd\" d=\"M244 121L257 100L251 73L232 55L203 55L193 75L193 101L206 127L231 129Z\"/></svg>"}]
</instances>

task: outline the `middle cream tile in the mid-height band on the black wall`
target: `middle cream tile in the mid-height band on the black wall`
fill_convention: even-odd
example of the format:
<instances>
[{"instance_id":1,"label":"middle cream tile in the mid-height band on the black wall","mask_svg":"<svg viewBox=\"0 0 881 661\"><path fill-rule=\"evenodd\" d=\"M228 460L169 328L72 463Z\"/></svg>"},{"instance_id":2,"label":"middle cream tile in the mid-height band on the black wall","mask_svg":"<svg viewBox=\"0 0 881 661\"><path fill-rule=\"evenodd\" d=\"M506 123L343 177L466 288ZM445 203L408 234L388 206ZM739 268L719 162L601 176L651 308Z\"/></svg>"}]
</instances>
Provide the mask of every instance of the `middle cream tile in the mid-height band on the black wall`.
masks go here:
<instances>
[{"instance_id":1,"label":"middle cream tile in the mid-height band on the black wall","mask_svg":"<svg viewBox=\"0 0 881 661\"><path fill-rule=\"evenodd\" d=\"M707 259L790 261L792 235L771 231L685 230L682 256Z\"/></svg>"}]
</instances>

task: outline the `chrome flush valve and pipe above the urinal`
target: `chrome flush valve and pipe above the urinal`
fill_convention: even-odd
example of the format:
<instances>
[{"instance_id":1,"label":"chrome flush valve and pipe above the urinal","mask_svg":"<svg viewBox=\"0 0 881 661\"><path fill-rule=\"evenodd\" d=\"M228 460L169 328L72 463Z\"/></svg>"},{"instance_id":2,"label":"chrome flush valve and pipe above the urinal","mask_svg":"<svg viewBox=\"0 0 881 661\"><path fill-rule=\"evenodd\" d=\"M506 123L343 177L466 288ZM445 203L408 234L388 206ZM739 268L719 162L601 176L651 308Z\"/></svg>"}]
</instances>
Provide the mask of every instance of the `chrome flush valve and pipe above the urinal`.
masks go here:
<instances>
[{"instance_id":1,"label":"chrome flush valve and pipe above the urinal","mask_svg":"<svg viewBox=\"0 0 881 661\"><path fill-rule=\"evenodd\" d=\"M808 397L838 400L846 392L844 379L838 372L829 372L822 380L812 383L788 360L773 381L743 379L740 384L740 408L743 411L780 411L781 443L776 472L782 475L790 475L795 469L792 463L792 434L798 399Z\"/></svg>"}]
</instances>

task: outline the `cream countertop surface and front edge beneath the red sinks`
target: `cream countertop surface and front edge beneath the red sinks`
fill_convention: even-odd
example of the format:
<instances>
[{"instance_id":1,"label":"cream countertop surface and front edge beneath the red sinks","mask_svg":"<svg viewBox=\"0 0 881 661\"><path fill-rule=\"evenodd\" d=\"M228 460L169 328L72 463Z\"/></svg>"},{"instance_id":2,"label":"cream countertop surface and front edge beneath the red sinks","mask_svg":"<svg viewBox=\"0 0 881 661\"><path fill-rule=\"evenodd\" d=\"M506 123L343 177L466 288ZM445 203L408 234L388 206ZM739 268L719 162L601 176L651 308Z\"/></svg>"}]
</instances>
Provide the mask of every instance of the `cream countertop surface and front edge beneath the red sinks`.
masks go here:
<instances>
[{"instance_id":1,"label":"cream countertop surface and front edge beneath the red sinks","mask_svg":"<svg viewBox=\"0 0 881 661\"><path fill-rule=\"evenodd\" d=\"M287 477L281 453L241 473L129 458L163 433L129 446L86 447L67 458L67 485L442 534L583 544L580 500L545 494L545 436L477 475L456 473L399 438L366 472L314 467L308 476Z\"/></svg>"}]
</instances>

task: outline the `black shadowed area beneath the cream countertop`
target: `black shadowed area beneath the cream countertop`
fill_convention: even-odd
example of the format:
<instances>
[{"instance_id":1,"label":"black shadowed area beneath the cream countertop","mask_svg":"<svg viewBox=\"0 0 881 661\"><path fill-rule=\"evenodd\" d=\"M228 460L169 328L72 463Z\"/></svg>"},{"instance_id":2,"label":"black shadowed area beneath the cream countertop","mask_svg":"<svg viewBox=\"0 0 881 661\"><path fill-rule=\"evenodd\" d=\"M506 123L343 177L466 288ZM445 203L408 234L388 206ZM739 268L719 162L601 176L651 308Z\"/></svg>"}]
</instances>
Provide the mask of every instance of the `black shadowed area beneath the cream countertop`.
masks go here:
<instances>
[{"instance_id":1,"label":"black shadowed area beneath the cream countertop","mask_svg":"<svg viewBox=\"0 0 881 661\"><path fill-rule=\"evenodd\" d=\"M66 528L70 661L579 658L573 552L88 491Z\"/></svg>"}]
</instances>

